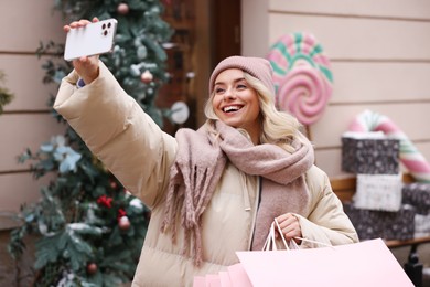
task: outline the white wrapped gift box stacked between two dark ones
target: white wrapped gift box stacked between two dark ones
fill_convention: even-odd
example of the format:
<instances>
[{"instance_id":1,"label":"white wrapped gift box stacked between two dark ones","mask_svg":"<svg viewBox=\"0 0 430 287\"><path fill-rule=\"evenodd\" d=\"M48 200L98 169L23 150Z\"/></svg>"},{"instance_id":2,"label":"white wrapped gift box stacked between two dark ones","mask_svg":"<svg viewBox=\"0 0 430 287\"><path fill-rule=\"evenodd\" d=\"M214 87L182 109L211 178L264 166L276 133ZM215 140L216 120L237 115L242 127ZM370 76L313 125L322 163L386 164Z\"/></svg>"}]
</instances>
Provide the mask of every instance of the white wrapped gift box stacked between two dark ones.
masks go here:
<instances>
[{"instance_id":1,"label":"white wrapped gift box stacked between two dark ones","mask_svg":"<svg viewBox=\"0 0 430 287\"><path fill-rule=\"evenodd\" d=\"M399 211L401 206L401 174L357 174L354 208Z\"/></svg>"}]
</instances>

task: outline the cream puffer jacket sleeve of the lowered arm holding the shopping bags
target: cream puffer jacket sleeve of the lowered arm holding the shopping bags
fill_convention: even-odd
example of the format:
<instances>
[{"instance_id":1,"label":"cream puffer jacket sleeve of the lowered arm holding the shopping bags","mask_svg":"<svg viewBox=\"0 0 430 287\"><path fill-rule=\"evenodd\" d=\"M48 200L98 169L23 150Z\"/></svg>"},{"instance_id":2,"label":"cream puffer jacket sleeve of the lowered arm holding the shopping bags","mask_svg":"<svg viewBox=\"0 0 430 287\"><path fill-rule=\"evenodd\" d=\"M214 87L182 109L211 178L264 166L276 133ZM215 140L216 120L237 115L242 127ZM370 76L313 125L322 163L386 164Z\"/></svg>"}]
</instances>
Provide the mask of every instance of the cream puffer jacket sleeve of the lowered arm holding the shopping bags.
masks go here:
<instances>
[{"instance_id":1,"label":"cream puffer jacket sleeve of the lowered arm holding the shopping bags","mask_svg":"<svg viewBox=\"0 0 430 287\"><path fill-rule=\"evenodd\" d=\"M303 238L326 245L358 242L357 233L345 214L342 202L333 192L325 172L312 167L307 173L307 184L311 193L309 216L295 214ZM302 247L322 247L322 245L303 241Z\"/></svg>"}]
</instances>

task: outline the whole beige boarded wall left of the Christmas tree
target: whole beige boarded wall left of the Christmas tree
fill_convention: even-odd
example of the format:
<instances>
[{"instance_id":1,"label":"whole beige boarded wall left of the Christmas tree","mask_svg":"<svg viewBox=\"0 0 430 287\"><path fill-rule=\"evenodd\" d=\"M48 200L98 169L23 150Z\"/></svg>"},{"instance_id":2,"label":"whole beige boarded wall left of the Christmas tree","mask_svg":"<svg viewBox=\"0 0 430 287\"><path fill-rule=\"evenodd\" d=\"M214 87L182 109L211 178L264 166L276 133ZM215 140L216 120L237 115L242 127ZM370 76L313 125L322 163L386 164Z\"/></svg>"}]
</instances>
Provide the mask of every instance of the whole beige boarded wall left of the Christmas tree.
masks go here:
<instances>
[{"instance_id":1,"label":"whole beige boarded wall left of the Christmas tree","mask_svg":"<svg viewBox=\"0 0 430 287\"><path fill-rule=\"evenodd\" d=\"M6 86L15 95L0 115L0 220L18 211L24 202L39 198L46 180L35 181L29 164L17 157L25 148L37 150L52 135L63 134L50 115L46 102L55 86L42 83L42 64L35 51L40 41L64 41L61 14L53 14L53 0L0 1L0 70L7 74ZM0 224L1 226L1 224Z\"/></svg>"}]
</instances>

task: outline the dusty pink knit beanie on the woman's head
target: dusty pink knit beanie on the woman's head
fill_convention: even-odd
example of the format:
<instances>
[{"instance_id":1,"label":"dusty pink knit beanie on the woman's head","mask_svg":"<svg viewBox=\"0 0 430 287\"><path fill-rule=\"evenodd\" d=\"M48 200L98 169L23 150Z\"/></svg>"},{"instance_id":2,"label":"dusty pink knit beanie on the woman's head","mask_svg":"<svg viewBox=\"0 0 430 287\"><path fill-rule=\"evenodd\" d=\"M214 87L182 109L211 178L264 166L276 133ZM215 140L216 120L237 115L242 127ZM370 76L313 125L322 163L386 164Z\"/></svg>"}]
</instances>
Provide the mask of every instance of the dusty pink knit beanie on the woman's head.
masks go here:
<instances>
[{"instance_id":1,"label":"dusty pink knit beanie on the woman's head","mask_svg":"<svg viewBox=\"0 0 430 287\"><path fill-rule=\"evenodd\" d=\"M255 76L275 96L275 86L272 82L273 70L266 59L250 56L229 56L218 63L212 72L209 79L209 95L215 86L215 78L221 72L227 68L240 68L251 76Z\"/></svg>"}]
</instances>

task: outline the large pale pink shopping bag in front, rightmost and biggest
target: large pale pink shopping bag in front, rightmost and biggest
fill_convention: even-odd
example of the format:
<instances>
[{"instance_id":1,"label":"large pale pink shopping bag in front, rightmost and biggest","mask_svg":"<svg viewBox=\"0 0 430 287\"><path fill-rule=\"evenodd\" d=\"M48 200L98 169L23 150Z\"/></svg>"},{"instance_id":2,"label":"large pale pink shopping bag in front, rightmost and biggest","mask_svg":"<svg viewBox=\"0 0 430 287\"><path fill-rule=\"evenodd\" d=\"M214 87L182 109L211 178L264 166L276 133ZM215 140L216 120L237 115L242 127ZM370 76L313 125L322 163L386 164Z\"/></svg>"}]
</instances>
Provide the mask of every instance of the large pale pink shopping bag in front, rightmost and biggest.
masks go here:
<instances>
[{"instance_id":1,"label":"large pale pink shopping bag in front, rightmost and biggest","mask_svg":"<svg viewBox=\"0 0 430 287\"><path fill-rule=\"evenodd\" d=\"M380 238L313 249L237 252L237 256L254 287L413 287Z\"/></svg>"}]
</instances>

